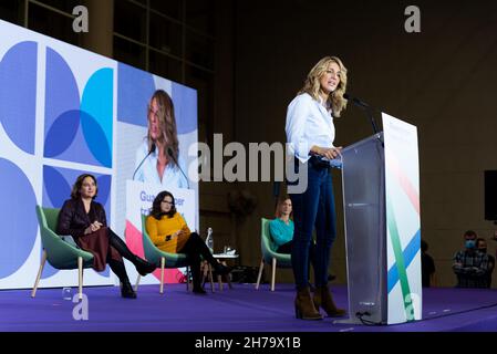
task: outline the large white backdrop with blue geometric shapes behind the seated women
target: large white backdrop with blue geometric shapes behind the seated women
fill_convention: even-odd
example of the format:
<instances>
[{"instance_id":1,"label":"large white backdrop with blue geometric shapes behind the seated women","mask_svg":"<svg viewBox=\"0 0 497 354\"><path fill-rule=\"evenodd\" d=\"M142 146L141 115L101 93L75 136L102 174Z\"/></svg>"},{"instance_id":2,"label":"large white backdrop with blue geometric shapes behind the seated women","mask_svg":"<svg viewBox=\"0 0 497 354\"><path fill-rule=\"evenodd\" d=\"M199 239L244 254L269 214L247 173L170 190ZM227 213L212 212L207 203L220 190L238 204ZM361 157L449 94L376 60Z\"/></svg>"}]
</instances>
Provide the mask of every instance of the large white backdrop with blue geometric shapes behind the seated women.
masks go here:
<instances>
[{"instance_id":1,"label":"large white backdrop with blue geometric shapes behind the seated women","mask_svg":"<svg viewBox=\"0 0 497 354\"><path fill-rule=\"evenodd\" d=\"M0 289L33 287L42 253L35 206L61 208L83 173L97 178L96 201L123 238L125 186L138 175L189 188L198 228L196 183L185 184L178 168L145 174L154 155L135 174L156 90L174 103L179 166L195 162L187 154L197 143L195 90L1 20L0 33ZM116 283L108 268L84 274L84 285ZM46 262L40 288L76 284L77 271Z\"/></svg>"}]
</instances>

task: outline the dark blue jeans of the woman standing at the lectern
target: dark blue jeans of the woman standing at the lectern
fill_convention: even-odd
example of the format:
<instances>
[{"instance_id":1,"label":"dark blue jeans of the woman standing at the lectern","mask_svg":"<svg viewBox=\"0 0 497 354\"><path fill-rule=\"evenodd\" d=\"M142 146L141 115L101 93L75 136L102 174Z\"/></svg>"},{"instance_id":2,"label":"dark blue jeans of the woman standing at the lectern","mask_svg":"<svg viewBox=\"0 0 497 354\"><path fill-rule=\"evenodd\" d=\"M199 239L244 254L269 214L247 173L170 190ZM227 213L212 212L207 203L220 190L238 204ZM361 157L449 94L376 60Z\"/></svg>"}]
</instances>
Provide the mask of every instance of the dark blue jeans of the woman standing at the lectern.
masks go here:
<instances>
[{"instance_id":1,"label":"dark blue jeans of the woman standing at the lectern","mask_svg":"<svg viewBox=\"0 0 497 354\"><path fill-rule=\"evenodd\" d=\"M315 227L315 285L328 283L330 250L336 237L333 185L329 167L320 166L311 157L302 165L308 168L308 188L302 194L290 195L293 207L293 247L291 261L297 289L309 284L309 247Z\"/></svg>"}]
</instances>

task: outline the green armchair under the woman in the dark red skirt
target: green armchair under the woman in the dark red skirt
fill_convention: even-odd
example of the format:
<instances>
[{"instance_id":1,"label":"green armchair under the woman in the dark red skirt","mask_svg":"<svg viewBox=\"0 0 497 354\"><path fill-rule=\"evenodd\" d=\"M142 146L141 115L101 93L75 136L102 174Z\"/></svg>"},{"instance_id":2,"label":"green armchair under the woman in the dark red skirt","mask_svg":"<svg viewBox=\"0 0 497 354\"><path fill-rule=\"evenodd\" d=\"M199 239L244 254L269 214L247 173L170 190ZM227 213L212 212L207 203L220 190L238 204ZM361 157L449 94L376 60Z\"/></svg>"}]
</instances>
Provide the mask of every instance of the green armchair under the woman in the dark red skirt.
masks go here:
<instances>
[{"instance_id":1,"label":"green armchair under the woman in the dark red skirt","mask_svg":"<svg viewBox=\"0 0 497 354\"><path fill-rule=\"evenodd\" d=\"M60 209L37 206L43 254L31 298L37 295L46 260L55 269L77 269L79 300L83 299L83 269L93 267L93 254L64 241L55 233Z\"/></svg>"}]
</instances>

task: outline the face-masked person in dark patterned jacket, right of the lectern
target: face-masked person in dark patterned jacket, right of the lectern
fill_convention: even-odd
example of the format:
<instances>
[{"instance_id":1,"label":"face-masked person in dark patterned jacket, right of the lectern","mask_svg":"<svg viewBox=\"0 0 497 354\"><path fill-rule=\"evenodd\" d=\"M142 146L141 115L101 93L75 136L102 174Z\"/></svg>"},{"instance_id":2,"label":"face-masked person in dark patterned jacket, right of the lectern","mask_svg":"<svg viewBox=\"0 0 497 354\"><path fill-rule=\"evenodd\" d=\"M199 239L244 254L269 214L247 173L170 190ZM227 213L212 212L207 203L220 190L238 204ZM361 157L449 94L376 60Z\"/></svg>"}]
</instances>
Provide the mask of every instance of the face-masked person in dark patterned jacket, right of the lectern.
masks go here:
<instances>
[{"instance_id":1,"label":"face-masked person in dark patterned jacket, right of the lectern","mask_svg":"<svg viewBox=\"0 0 497 354\"><path fill-rule=\"evenodd\" d=\"M476 248L477 235L473 230L464 233L465 249L454 256L452 266L457 275L456 288L487 288L489 258Z\"/></svg>"}]
</instances>

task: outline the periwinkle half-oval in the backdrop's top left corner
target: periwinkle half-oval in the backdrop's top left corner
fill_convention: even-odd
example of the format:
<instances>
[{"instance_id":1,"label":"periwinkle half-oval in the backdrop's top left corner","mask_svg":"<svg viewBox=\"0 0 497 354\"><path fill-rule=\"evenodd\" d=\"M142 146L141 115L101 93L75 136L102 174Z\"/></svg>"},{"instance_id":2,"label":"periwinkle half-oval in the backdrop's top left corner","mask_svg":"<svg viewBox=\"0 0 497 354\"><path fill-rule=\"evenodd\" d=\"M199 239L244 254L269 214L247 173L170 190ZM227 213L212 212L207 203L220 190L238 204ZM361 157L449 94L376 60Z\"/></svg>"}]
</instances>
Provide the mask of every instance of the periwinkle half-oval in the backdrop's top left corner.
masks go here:
<instances>
[{"instance_id":1,"label":"periwinkle half-oval in the backdrop's top left corner","mask_svg":"<svg viewBox=\"0 0 497 354\"><path fill-rule=\"evenodd\" d=\"M13 45L0 62L0 123L21 150L34 154L35 42Z\"/></svg>"}]
</instances>

